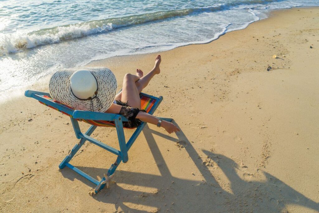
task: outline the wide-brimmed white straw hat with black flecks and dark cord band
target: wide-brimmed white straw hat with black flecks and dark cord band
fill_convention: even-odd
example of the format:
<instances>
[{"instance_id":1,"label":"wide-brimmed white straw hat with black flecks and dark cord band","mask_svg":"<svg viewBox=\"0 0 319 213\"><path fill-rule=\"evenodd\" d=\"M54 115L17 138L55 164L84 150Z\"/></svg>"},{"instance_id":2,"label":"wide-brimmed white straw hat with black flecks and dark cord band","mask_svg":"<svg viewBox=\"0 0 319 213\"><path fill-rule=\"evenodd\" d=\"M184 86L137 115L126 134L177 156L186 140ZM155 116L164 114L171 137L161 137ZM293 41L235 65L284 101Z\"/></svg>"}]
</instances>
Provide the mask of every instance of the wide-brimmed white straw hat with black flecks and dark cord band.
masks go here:
<instances>
[{"instance_id":1,"label":"wide-brimmed white straw hat with black flecks and dark cord band","mask_svg":"<svg viewBox=\"0 0 319 213\"><path fill-rule=\"evenodd\" d=\"M92 75L91 75L92 74ZM76 110L105 112L116 95L117 82L106 67L74 67L55 72L50 95Z\"/></svg>"}]
</instances>

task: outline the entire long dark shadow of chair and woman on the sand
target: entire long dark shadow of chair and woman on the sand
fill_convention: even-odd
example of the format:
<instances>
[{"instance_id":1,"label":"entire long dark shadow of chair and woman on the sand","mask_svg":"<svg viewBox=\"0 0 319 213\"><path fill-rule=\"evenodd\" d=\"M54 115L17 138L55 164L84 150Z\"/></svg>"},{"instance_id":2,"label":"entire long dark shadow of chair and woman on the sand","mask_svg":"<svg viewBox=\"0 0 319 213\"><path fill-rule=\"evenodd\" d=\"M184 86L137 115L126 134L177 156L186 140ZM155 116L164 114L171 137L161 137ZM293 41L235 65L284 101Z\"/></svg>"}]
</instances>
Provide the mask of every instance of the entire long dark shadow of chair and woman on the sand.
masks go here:
<instances>
[{"instance_id":1,"label":"entire long dark shadow of chair and woman on the sand","mask_svg":"<svg viewBox=\"0 0 319 213\"><path fill-rule=\"evenodd\" d=\"M175 123L175 125L177 124ZM204 165L202 158L199 157L182 131L176 134L178 139L149 128L144 128L143 133L158 166L160 176L117 170L116 182L132 185L134 188L137 187L138 191L127 189L130 188L127 186L124 189L117 184L111 184L109 189L103 189L94 195L94 199L99 202L114 204L115 209L121 209L124 212L147 212L141 210L141 205L163 212L283 212L290 204L319 211L319 203L307 198L271 174L262 171L265 177L263 182L246 181L236 172L238 165L232 159L202 150L209 159L215 162L214 166L218 166L229 180L230 188L224 190L225 186L219 185L219 182L216 181L209 168ZM185 155L189 155L189 160L193 161L203 180L173 177L160 153L153 134L173 142L184 141L184 148L187 151ZM180 166L183 167L184 165ZM95 174L103 174L106 171L105 168L80 166L78 168ZM65 178L70 180L76 178L89 186L95 187L91 182L70 169L63 169L61 173ZM145 187L158 190L146 193L143 192Z\"/></svg>"}]
</instances>

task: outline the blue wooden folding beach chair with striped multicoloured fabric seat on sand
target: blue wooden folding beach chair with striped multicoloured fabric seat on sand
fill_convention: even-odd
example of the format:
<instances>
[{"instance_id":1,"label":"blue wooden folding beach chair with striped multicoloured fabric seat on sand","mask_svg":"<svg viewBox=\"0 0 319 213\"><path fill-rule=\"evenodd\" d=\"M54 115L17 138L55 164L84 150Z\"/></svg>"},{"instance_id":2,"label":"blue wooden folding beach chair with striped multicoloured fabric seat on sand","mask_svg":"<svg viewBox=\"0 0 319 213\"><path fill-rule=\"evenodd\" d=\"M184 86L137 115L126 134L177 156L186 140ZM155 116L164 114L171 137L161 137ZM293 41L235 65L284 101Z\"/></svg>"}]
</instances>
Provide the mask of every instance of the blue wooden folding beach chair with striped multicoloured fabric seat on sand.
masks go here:
<instances>
[{"instance_id":1,"label":"blue wooden folding beach chair with striped multicoloured fabric seat on sand","mask_svg":"<svg viewBox=\"0 0 319 213\"><path fill-rule=\"evenodd\" d=\"M92 183L94 183L96 186L95 193L98 193L102 188L104 188L105 185L107 185L107 188L109 186L109 179L113 177L114 172L118 165L123 162L126 163L129 160L128 157L128 151L130 147L133 145L134 141L136 140L137 136L141 133L145 126L145 122L142 122L140 126L138 126L133 133L133 135L130 137L130 139L126 142L124 131L123 131L123 125L122 121L128 121L124 116L119 114L111 114L111 113L102 113L102 112L92 112L92 111L82 111L82 110L75 110L67 105L64 105L62 103L59 103L51 98L49 93L45 92L38 92L38 91L32 91L32 90L26 90L25 92L26 97L31 97L36 100L38 100L40 103L53 108L55 110L58 110L62 112L65 115L70 116L71 123L75 132L75 136L80 139L79 143L76 144L70 154L64 158L64 160L59 165L60 169L63 169L65 166L69 167L71 170L77 172L79 175L85 177ZM154 97L152 95L147 95L145 93L140 94L141 98L141 109L145 110L149 114L153 114L154 111L157 109L161 101L163 100L162 96ZM166 121L172 121L171 118L161 118L162 120ZM88 124L92 124L92 126L85 132L82 133L78 124L78 121L84 121ZM117 137L120 145L120 150L117 150L113 147L110 147L101 141L98 141L90 135L93 133L93 131L96 129L97 126L104 126L104 127L115 127L117 131ZM79 170L75 166L71 165L69 162L72 159L72 157L77 153L77 151L81 148L81 146L84 144L85 141L89 141L101 148L104 148L105 150L117 155L117 158L115 160L115 163L110 166L108 169L107 174L104 174L104 177L98 181L94 178L92 178L90 175L86 174L85 172Z\"/></svg>"}]
</instances>

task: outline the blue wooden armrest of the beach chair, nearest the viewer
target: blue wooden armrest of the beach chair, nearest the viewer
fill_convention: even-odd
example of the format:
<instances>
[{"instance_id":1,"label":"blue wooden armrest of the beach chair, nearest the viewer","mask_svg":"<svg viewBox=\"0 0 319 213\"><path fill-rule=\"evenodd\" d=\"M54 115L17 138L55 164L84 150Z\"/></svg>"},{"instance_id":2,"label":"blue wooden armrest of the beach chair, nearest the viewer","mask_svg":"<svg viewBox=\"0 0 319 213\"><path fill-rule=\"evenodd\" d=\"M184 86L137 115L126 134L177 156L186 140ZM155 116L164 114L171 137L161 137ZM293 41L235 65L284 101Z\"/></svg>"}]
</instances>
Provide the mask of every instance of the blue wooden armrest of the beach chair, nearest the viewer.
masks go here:
<instances>
[{"instance_id":1,"label":"blue wooden armrest of the beach chair, nearest the viewer","mask_svg":"<svg viewBox=\"0 0 319 213\"><path fill-rule=\"evenodd\" d=\"M74 110L72 117L75 119L85 119L85 120L104 120L104 121L114 121L121 117L122 121L129 121L122 115L113 114L113 113L104 113L104 112L91 112L83 110Z\"/></svg>"}]
</instances>

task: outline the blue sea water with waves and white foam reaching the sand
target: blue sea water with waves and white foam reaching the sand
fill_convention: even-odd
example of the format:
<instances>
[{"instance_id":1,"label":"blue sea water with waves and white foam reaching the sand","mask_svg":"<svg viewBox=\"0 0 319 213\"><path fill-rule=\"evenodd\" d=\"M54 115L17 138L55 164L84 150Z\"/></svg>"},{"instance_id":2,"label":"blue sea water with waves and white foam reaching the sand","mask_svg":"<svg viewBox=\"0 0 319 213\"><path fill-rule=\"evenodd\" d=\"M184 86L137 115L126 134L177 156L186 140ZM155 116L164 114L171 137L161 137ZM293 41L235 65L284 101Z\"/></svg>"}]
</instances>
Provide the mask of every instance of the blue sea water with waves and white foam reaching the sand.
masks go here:
<instances>
[{"instance_id":1,"label":"blue sea water with waves and white foam reaching the sand","mask_svg":"<svg viewBox=\"0 0 319 213\"><path fill-rule=\"evenodd\" d=\"M319 0L0 0L0 101L61 68L206 43Z\"/></svg>"}]
</instances>

